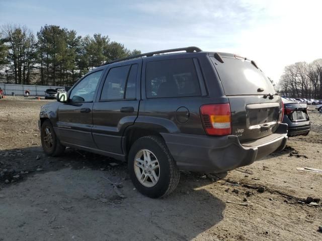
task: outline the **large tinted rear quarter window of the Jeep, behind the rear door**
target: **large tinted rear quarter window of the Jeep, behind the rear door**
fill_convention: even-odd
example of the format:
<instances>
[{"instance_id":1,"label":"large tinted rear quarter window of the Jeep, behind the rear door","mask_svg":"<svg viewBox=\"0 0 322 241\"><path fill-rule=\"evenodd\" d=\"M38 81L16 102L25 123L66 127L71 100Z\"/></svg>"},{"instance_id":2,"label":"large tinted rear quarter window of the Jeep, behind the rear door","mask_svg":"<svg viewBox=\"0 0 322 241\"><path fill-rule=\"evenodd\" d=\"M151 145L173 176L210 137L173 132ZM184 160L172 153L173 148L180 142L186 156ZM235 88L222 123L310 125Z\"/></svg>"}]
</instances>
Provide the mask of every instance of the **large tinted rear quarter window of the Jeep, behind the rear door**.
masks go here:
<instances>
[{"instance_id":1,"label":"large tinted rear quarter window of the Jeep, behind the rear door","mask_svg":"<svg viewBox=\"0 0 322 241\"><path fill-rule=\"evenodd\" d=\"M146 64L148 98L200 95L200 85L192 59L160 60Z\"/></svg>"}]
</instances>

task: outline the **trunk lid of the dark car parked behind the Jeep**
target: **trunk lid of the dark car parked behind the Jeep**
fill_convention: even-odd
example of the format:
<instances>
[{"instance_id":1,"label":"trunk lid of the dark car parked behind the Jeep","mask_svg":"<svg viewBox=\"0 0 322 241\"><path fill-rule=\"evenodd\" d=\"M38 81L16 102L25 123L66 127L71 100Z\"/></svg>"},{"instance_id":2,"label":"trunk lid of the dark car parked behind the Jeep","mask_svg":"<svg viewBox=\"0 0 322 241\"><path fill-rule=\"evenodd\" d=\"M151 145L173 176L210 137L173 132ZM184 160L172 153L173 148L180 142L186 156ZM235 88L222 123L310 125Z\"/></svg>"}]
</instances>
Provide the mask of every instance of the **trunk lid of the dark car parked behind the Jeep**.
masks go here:
<instances>
[{"instance_id":1,"label":"trunk lid of the dark car parked behind the Jeep","mask_svg":"<svg viewBox=\"0 0 322 241\"><path fill-rule=\"evenodd\" d=\"M309 121L306 103L285 102L284 114L293 123Z\"/></svg>"}]
</instances>

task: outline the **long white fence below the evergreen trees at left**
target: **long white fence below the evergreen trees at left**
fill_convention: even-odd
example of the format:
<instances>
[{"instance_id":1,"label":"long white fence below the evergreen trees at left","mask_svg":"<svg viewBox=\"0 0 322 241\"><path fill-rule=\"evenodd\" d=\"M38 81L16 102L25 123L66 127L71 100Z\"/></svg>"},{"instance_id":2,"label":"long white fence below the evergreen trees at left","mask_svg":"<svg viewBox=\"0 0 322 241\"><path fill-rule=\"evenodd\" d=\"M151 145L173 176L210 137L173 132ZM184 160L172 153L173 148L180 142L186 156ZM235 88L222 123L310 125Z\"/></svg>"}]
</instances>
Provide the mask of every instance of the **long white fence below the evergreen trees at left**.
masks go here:
<instances>
[{"instance_id":1,"label":"long white fence below the evergreen trees at left","mask_svg":"<svg viewBox=\"0 0 322 241\"><path fill-rule=\"evenodd\" d=\"M61 86L45 86L45 85L27 85L27 84L0 84L0 88L5 95L24 95L26 89L29 89L30 95L44 96L46 89L65 88Z\"/></svg>"}]
</instances>

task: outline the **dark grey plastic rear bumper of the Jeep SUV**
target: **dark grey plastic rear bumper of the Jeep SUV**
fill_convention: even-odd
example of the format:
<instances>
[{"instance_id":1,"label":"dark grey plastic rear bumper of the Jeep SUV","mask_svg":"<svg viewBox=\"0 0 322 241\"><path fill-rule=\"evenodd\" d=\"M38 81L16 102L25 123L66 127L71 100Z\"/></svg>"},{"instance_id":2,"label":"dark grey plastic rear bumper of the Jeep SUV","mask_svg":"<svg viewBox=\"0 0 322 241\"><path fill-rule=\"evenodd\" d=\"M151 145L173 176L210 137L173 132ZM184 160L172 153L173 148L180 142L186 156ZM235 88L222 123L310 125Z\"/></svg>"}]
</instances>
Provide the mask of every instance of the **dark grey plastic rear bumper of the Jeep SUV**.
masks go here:
<instances>
[{"instance_id":1,"label":"dark grey plastic rear bumper of the Jeep SUV","mask_svg":"<svg viewBox=\"0 0 322 241\"><path fill-rule=\"evenodd\" d=\"M162 134L182 170L220 173L247 166L272 152L283 150L287 125L268 137L241 145L236 136L209 137L189 134Z\"/></svg>"}]
</instances>

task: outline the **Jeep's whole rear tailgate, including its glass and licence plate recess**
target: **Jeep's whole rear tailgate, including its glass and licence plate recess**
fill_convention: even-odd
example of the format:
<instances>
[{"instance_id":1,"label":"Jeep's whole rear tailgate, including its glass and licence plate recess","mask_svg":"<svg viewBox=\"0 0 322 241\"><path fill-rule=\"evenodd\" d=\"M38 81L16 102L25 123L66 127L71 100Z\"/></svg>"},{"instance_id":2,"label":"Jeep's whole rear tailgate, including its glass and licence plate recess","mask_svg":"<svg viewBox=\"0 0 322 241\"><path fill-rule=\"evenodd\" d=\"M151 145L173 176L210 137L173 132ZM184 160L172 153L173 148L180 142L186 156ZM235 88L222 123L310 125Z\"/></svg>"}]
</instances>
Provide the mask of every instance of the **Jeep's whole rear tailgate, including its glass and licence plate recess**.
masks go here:
<instances>
[{"instance_id":1,"label":"Jeep's whole rear tailgate, including its glass and licence plate recess","mask_svg":"<svg viewBox=\"0 0 322 241\"><path fill-rule=\"evenodd\" d=\"M273 134L282 118L282 101L272 83L255 62L233 54L220 57L210 59L229 99L232 135L245 143Z\"/></svg>"}]
</instances>

